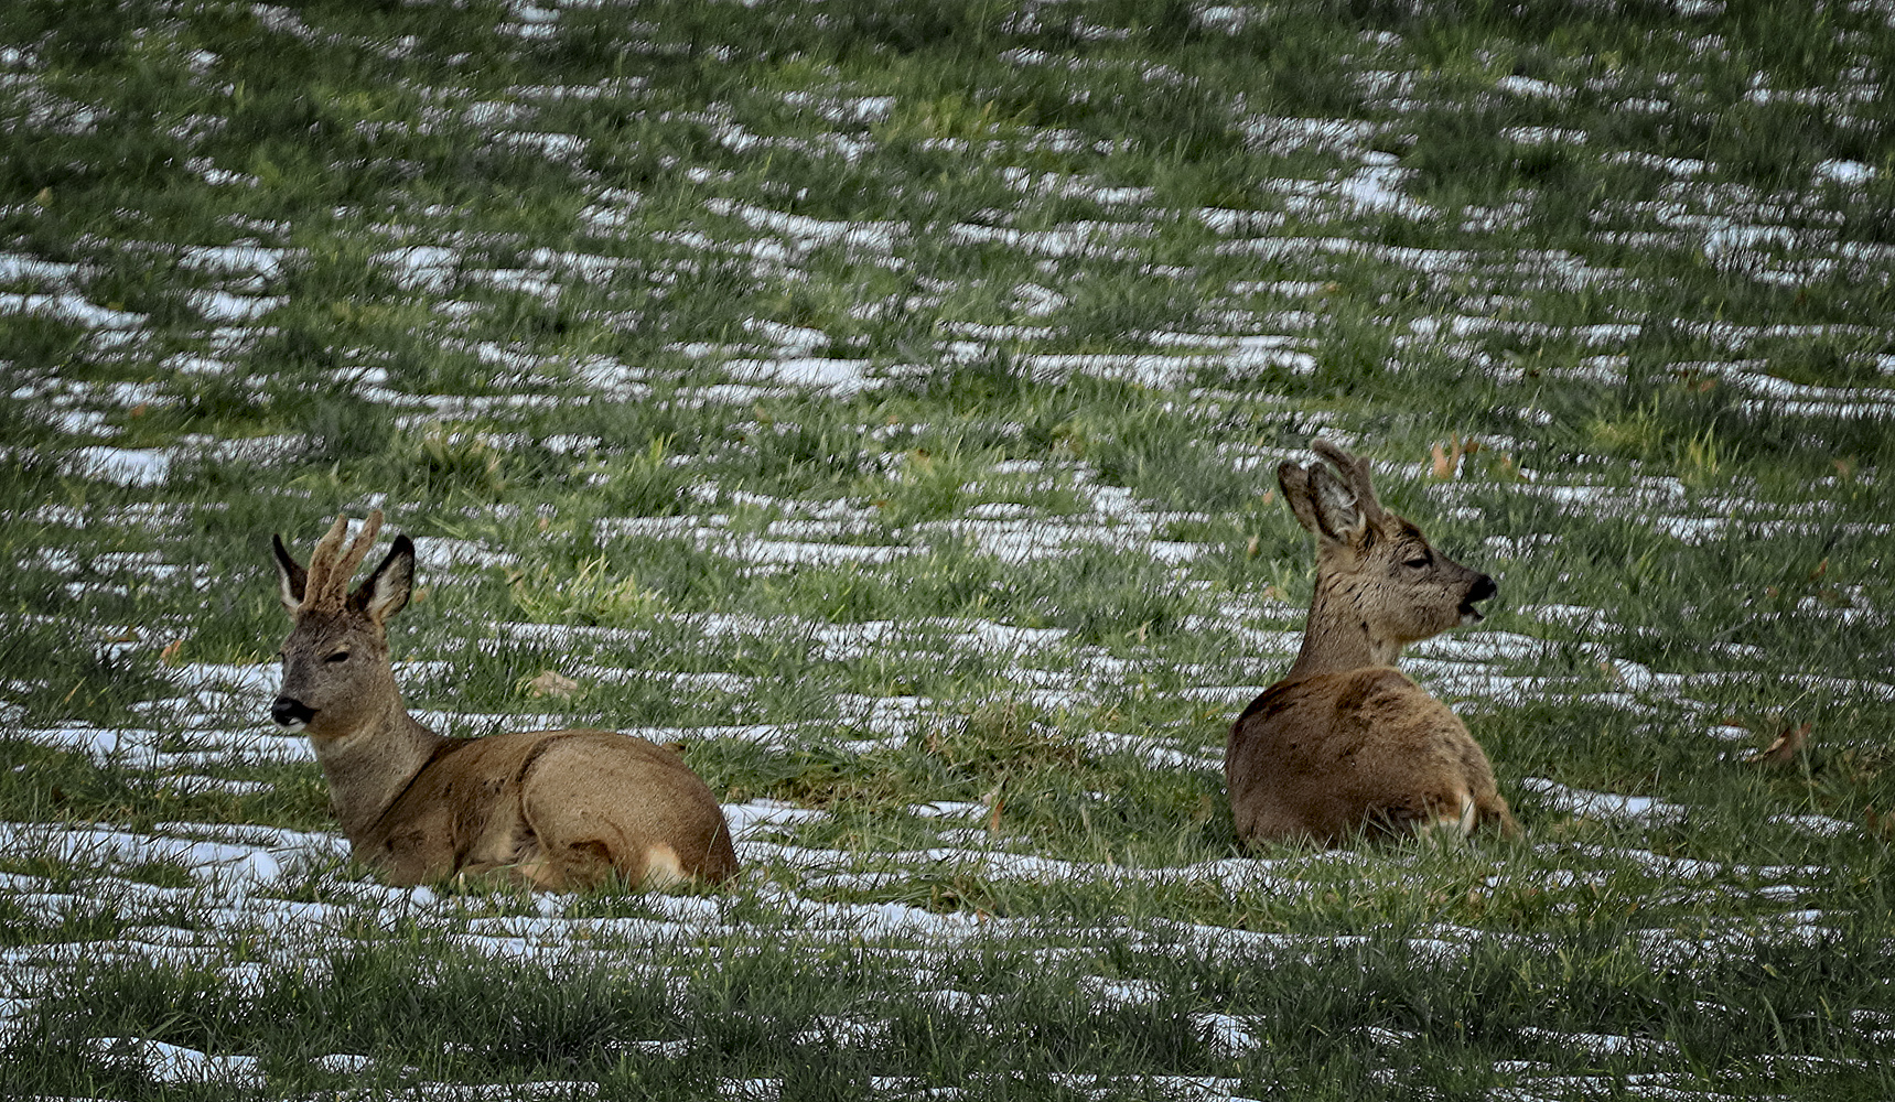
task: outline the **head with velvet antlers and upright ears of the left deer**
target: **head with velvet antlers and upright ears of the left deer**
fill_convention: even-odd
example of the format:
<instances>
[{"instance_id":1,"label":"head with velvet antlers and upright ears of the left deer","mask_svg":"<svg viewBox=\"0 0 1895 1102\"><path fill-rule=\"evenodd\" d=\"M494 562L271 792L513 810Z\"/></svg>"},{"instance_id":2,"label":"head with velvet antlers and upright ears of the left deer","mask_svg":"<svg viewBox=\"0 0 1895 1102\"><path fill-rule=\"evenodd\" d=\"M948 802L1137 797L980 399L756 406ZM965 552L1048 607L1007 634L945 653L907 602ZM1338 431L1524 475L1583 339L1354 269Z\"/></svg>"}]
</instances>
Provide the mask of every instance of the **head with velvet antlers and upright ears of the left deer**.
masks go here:
<instances>
[{"instance_id":1,"label":"head with velvet antlers and upright ears of the left deer","mask_svg":"<svg viewBox=\"0 0 1895 1102\"><path fill-rule=\"evenodd\" d=\"M343 549L349 517L316 542L303 570L273 536L282 608L294 627L282 640L282 691L269 714L286 731L315 740L345 738L400 706L388 665L388 617L407 604L415 581L415 543L396 536L388 557L352 593L349 579L381 530L381 509Z\"/></svg>"}]
</instances>

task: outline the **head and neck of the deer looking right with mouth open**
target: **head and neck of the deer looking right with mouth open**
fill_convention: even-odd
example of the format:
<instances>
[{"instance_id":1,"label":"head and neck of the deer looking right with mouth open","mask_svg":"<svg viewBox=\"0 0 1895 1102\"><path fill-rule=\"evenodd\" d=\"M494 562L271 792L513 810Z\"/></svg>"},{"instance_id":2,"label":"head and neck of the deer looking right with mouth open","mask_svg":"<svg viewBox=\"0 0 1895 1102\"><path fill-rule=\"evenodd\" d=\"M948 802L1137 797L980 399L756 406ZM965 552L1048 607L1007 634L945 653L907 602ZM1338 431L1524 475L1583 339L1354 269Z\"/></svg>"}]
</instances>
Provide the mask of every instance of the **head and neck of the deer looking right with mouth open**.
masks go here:
<instances>
[{"instance_id":1,"label":"head and neck of the deer looking right with mouth open","mask_svg":"<svg viewBox=\"0 0 1895 1102\"><path fill-rule=\"evenodd\" d=\"M1277 468L1283 498L1317 538L1317 593L1298 667L1338 668L1340 659L1321 651L1351 651L1353 661L1357 640L1368 644L1357 665L1387 665L1404 644L1478 623L1474 604L1497 593L1493 579L1435 551L1421 528L1383 509L1368 460L1323 439L1309 447L1330 466Z\"/></svg>"}]
</instances>

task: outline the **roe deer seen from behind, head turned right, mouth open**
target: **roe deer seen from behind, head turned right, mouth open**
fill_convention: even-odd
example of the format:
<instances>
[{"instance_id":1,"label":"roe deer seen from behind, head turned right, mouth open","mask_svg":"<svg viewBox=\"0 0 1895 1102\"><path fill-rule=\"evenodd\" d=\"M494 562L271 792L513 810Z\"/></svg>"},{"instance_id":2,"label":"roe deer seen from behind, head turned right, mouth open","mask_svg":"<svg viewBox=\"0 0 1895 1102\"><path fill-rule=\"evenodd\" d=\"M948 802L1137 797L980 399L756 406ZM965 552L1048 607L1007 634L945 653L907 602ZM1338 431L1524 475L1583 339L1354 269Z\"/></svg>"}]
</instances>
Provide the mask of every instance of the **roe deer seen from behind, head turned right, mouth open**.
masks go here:
<instances>
[{"instance_id":1,"label":"roe deer seen from behind, head turned right, mouth open","mask_svg":"<svg viewBox=\"0 0 1895 1102\"><path fill-rule=\"evenodd\" d=\"M1302 651L1230 727L1224 780L1243 841L1340 844L1359 833L1520 826L1461 720L1393 667L1404 644L1480 621L1493 579L1450 560L1368 485L1368 460L1277 468L1315 534L1315 598Z\"/></svg>"}]
</instances>

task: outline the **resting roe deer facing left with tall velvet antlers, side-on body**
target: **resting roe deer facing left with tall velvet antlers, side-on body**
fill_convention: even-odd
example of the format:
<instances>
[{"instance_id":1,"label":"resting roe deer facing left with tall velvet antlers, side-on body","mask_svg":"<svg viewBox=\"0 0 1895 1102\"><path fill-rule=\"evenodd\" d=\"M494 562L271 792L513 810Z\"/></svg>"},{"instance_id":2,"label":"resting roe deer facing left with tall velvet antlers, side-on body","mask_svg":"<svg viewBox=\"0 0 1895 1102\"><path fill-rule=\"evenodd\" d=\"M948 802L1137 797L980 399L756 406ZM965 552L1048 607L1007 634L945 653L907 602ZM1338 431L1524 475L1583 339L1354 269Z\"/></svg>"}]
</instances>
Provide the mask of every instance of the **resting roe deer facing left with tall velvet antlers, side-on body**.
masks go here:
<instances>
[{"instance_id":1,"label":"resting roe deer facing left with tall velvet antlers, side-on body","mask_svg":"<svg viewBox=\"0 0 1895 1102\"><path fill-rule=\"evenodd\" d=\"M343 549L337 517L296 564L275 538L282 606L282 695L271 716L316 748L351 850L392 884L502 873L531 888L572 890L618 873L631 884L737 871L724 812L684 759L616 731L515 731L443 738L394 685L388 617L407 604L415 545L349 593L381 511Z\"/></svg>"}]
</instances>

